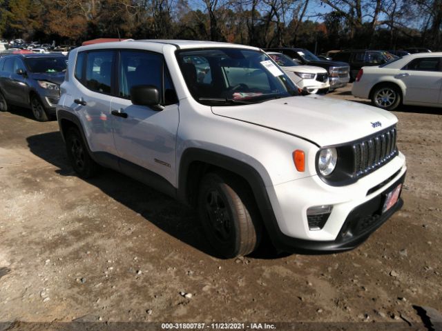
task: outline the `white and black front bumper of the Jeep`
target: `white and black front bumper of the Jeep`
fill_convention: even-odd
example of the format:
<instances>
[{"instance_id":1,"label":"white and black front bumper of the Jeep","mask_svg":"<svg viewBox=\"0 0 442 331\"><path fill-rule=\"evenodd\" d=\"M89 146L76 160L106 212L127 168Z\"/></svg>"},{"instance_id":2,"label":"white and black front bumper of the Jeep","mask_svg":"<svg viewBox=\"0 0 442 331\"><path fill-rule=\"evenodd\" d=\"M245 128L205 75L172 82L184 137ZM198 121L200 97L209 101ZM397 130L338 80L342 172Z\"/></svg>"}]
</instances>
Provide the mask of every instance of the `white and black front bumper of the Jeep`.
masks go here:
<instances>
[{"instance_id":1,"label":"white and black front bumper of the Jeep","mask_svg":"<svg viewBox=\"0 0 442 331\"><path fill-rule=\"evenodd\" d=\"M385 192L405 179L405 157L399 154L352 185L331 187L317 176L267 188L277 229L273 243L288 252L336 252L351 250L403 205L401 199L381 214ZM333 205L320 230L309 230L307 209Z\"/></svg>"}]
</instances>

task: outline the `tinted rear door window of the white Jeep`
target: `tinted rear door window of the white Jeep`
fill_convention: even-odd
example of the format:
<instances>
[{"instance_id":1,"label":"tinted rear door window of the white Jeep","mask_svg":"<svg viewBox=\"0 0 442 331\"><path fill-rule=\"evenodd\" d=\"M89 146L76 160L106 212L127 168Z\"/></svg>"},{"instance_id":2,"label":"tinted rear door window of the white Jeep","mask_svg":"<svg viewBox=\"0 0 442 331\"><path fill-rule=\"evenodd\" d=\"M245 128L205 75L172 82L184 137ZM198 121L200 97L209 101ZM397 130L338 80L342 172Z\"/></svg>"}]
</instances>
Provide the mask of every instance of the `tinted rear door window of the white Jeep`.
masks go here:
<instances>
[{"instance_id":1,"label":"tinted rear door window of the white Jeep","mask_svg":"<svg viewBox=\"0 0 442 331\"><path fill-rule=\"evenodd\" d=\"M114 52L89 52L86 63L86 87L100 93L111 94Z\"/></svg>"}]
</instances>

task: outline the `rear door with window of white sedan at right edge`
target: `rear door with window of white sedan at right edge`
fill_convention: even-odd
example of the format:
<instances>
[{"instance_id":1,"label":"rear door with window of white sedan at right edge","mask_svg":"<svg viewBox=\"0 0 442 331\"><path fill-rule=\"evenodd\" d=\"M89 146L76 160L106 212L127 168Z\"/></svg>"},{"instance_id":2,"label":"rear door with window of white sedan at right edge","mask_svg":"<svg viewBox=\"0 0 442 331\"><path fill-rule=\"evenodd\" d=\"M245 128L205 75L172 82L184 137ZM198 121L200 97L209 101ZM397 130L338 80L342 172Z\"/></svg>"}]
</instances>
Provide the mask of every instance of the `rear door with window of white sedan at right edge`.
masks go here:
<instances>
[{"instance_id":1,"label":"rear door with window of white sedan at right edge","mask_svg":"<svg viewBox=\"0 0 442 331\"><path fill-rule=\"evenodd\" d=\"M407 87L404 101L433 103L441 102L442 72L441 57L419 57L413 59L396 75Z\"/></svg>"}]
</instances>

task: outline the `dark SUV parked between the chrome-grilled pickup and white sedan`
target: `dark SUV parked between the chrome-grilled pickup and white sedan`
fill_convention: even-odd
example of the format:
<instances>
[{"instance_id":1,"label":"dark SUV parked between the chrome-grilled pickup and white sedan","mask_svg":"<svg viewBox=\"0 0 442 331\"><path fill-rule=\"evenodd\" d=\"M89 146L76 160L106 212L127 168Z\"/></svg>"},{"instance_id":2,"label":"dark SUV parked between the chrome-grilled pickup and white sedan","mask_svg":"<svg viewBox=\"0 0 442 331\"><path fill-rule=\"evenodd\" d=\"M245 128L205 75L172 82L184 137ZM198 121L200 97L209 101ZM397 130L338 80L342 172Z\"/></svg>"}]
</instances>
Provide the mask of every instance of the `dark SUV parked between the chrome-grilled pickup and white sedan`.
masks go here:
<instances>
[{"instance_id":1,"label":"dark SUV parked between the chrome-grilled pickup and white sedan","mask_svg":"<svg viewBox=\"0 0 442 331\"><path fill-rule=\"evenodd\" d=\"M354 81L362 67L381 66L381 64L397 59L397 57L385 50L343 50L334 54L333 59L349 63L350 80Z\"/></svg>"}]
</instances>

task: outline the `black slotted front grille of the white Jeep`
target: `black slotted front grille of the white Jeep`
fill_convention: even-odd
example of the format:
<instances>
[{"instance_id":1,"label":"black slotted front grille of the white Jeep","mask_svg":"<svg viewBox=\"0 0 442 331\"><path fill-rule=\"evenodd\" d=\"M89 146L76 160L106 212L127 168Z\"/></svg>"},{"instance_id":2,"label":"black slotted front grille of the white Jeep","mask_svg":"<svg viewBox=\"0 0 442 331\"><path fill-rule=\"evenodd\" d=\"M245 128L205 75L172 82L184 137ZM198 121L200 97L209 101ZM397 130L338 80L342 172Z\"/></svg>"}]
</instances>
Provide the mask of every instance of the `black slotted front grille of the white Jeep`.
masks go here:
<instances>
[{"instance_id":1,"label":"black slotted front grille of the white Jeep","mask_svg":"<svg viewBox=\"0 0 442 331\"><path fill-rule=\"evenodd\" d=\"M383 163L390 161L397 153L396 128L379 132L366 140L354 143L354 174L366 174Z\"/></svg>"}]
</instances>

